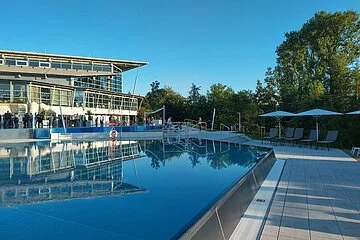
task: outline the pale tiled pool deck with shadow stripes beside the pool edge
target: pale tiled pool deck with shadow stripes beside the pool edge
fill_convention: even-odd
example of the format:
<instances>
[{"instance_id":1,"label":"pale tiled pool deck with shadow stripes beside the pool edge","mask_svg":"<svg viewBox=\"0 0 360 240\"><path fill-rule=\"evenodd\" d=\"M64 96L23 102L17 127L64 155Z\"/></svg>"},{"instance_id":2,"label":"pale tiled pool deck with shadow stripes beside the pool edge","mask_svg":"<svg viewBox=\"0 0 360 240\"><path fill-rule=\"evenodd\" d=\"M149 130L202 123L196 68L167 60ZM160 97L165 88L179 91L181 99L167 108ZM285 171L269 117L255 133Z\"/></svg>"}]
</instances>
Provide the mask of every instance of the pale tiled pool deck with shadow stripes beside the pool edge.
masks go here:
<instances>
[{"instance_id":1,"label":"pale tiled pool deck with shadow stripes beside the pool edge","mask_svg":"<svg viewBox=\"0 0 360 240\"><path fill-rule=\"evenodd\" d=\"M260 239L360 239L360 164L339 149L272 147L286 164Z\"/></svg>"}]
</instances>

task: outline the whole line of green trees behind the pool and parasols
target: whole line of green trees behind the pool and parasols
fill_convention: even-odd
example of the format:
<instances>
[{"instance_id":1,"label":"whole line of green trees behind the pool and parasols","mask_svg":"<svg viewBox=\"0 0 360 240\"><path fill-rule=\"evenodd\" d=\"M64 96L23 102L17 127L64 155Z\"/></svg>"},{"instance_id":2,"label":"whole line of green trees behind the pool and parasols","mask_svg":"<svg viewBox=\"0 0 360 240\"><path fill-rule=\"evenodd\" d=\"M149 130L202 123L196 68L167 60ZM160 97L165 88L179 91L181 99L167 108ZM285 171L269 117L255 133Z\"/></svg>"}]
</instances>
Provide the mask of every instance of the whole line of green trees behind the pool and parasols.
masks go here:
<instances>
[{"instance_id":1,"label":"whole line of green trees behind the pool and parasols","mask_svg":"<svg viewBox=\"0 0 360 240\"><path fill-rule=\"evenodd\" d=\"M221 83L211 85L205 95L200 86L192 84L188 97L170 87L151 84L151 90L140 108L143 112L166 106L166 118L183 121L201 117L210 124L216 109L215 128L219 124L234 125L241 113L242 125L252 135L260 127L276 125L275 119L259 118L259 114L275 110L301 112L323 108L338 112L360 109L360 20L354 11L319 12L300 30L285 34L276 49L277 59L268 68L263 81L258 80L255 91L235 92ZM315 126L312 117L283 119L283 125ZM320 128L339 130L343 147L360 146L360 115L321 117ZM323 137L323 136L322 136Z\"/></svg>"}]
</instances>

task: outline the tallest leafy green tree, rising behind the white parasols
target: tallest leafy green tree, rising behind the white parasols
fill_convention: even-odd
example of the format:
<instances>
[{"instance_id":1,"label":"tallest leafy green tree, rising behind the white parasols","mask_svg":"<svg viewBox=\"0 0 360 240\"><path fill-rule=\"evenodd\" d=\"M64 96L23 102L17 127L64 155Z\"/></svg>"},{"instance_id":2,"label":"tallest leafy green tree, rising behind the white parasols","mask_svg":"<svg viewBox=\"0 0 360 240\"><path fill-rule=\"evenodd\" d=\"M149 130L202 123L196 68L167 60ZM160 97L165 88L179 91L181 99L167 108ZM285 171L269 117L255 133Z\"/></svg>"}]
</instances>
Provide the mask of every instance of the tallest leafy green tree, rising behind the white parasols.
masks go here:
<instances>
[{"instance_id":1,"label":"tallest leafy green tree, rising behind the white parasols","mask_svg":"<svg viewBox=\"0 0 360 240\"><path fill-rule=\"evenodd\" d=\"M276 83L290 111L352 108L358 98L360 21L353 11L319 12L277 48Z\"/></svg>"}]
</instances>

